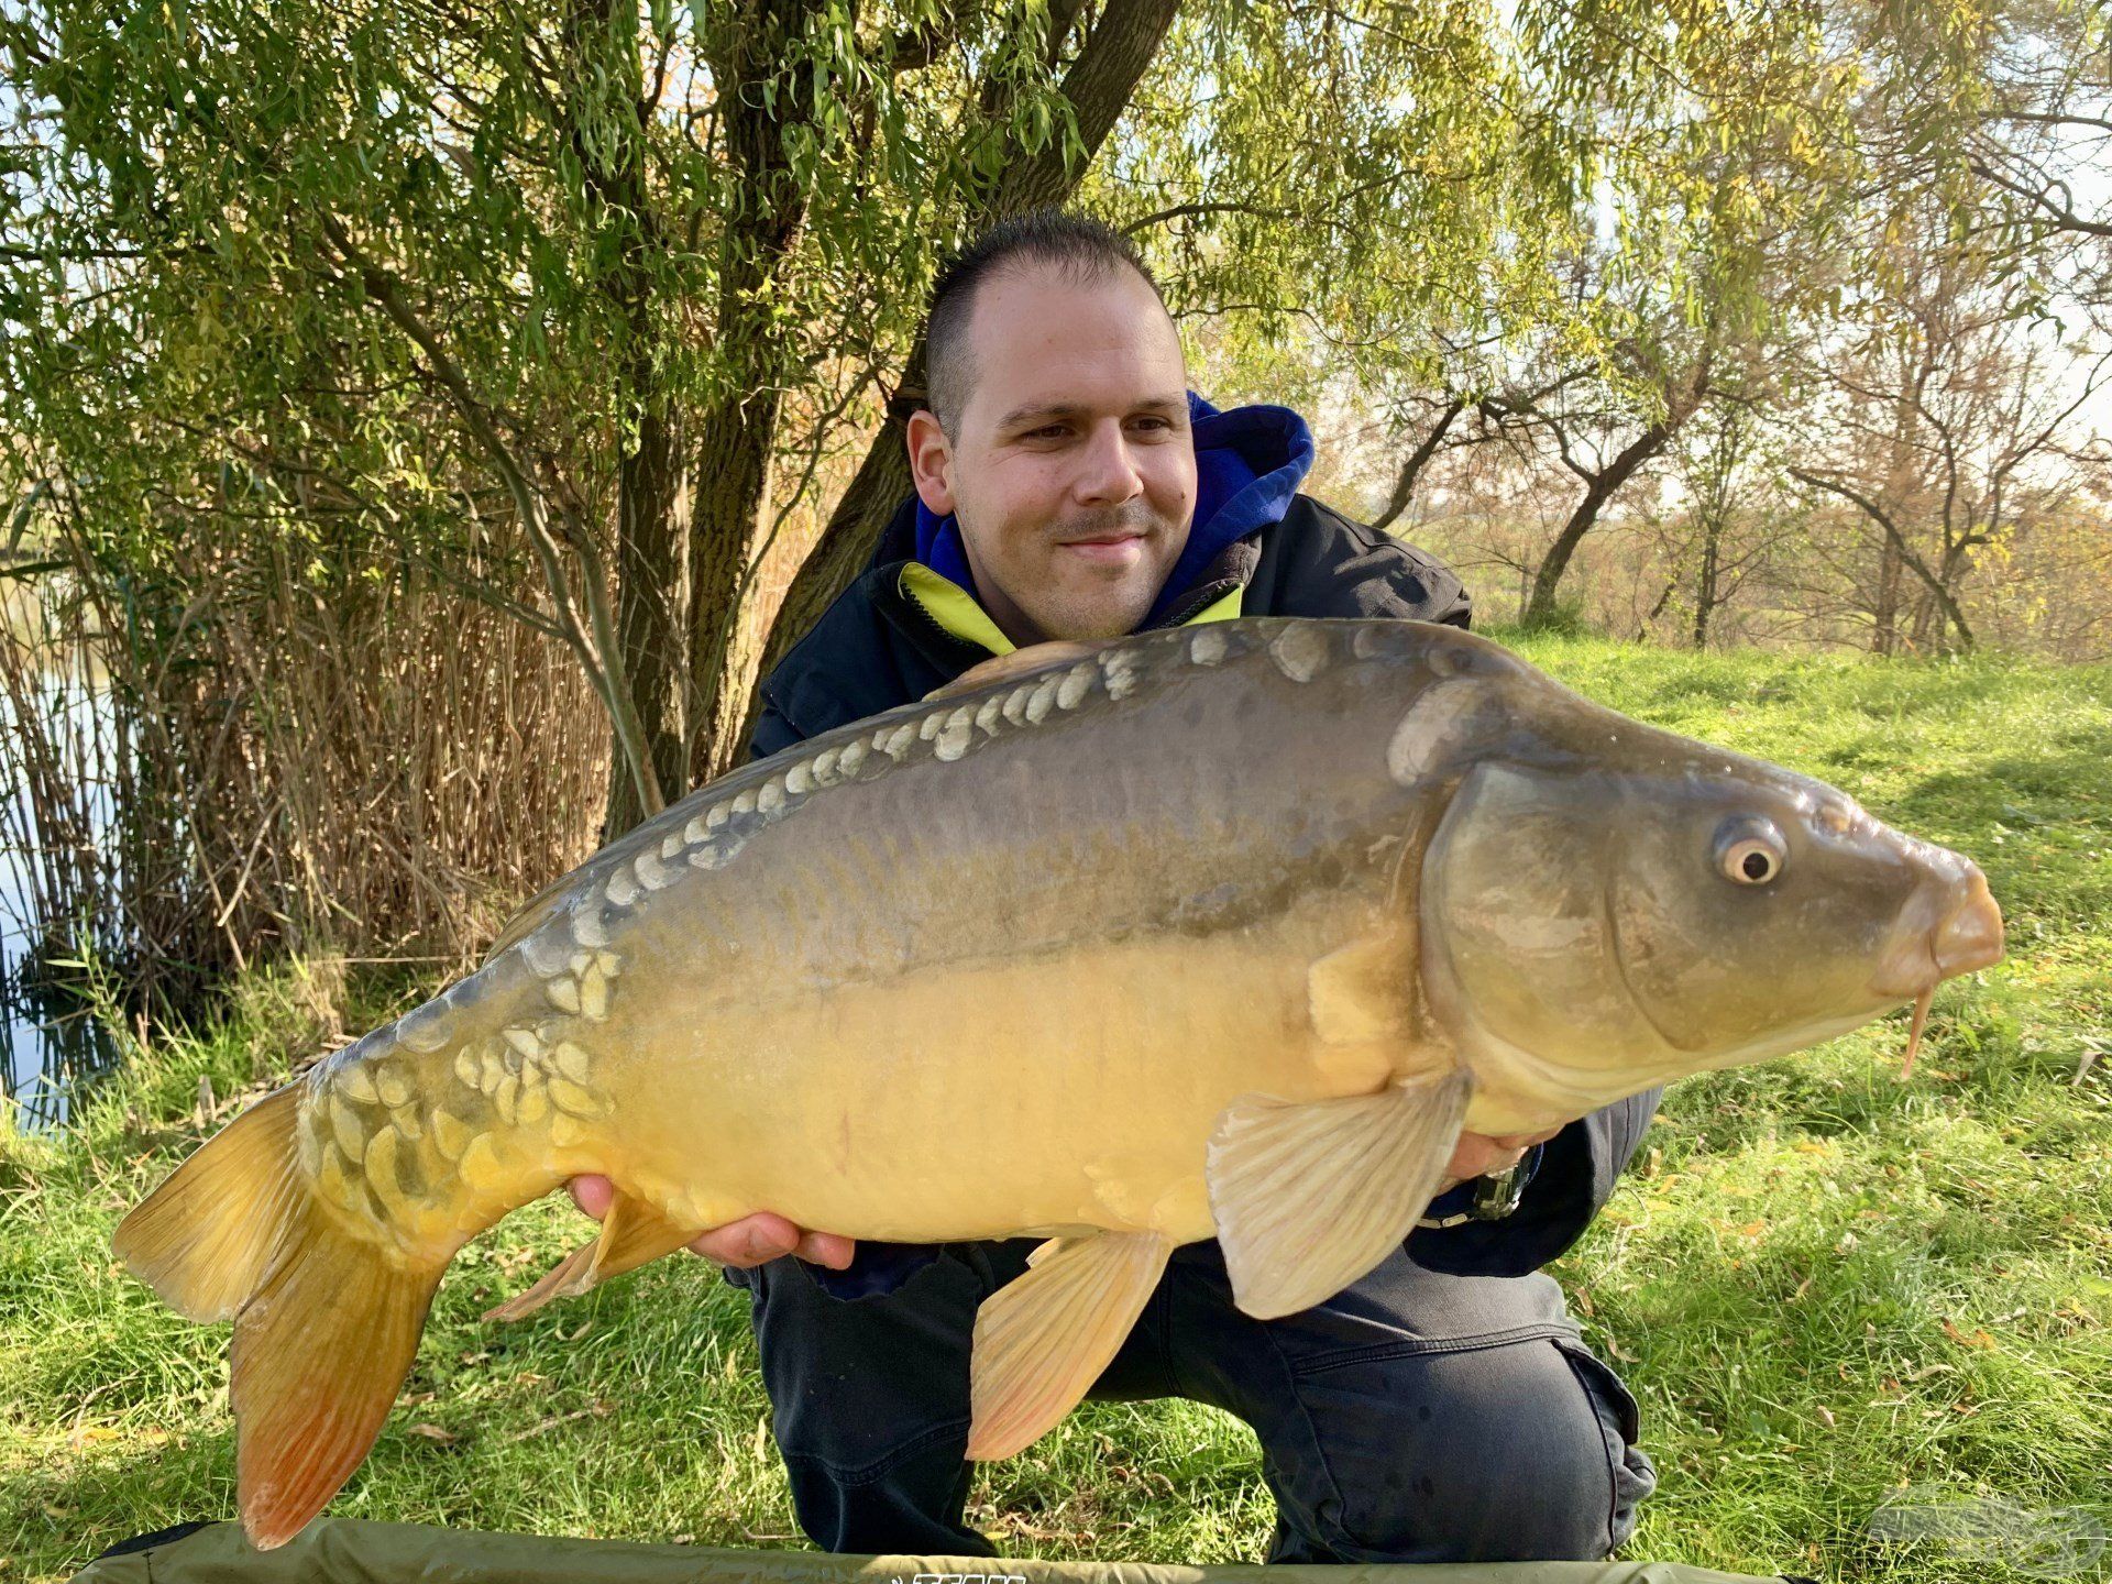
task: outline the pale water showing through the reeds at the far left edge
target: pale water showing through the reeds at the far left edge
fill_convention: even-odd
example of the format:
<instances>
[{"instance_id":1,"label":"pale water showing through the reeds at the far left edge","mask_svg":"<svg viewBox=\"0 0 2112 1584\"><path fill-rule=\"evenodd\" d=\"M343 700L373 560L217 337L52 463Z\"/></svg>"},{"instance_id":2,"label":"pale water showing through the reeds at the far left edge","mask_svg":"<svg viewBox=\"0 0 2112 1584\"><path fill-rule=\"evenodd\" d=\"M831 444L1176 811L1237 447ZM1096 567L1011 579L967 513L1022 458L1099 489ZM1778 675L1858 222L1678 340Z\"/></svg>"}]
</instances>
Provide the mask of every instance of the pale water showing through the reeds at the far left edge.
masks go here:
<instances>
[{"instance_id":1,"label":"pale water showing through the reeds at the far left edge","mask_svg":"<svg viewBox=\"0 0 2112 1584\"><path fill-rule=\"evenodd\" d=\"M118 733L108 689L53 678L42 708L68 710L74 720L95 733L103 746ZM0 697L0 733L15 731L15 712ZM0 750L0 775L13 777L13 754ZM23 1128L51 1128L65 1119L68 1100L78 1086L108 1071L116 1060L110 1031L91 1018L78 999L30 982L30 953L44 936L46 921L36 917L36 887L30 853L21 843L36 836L32 800L19 779L8 786L8 819L0 826L0 1094L15 1100ZM99 841L110 830L110 788L91 788L87 798L89 838Z\"/></svg>"}]
</instances>

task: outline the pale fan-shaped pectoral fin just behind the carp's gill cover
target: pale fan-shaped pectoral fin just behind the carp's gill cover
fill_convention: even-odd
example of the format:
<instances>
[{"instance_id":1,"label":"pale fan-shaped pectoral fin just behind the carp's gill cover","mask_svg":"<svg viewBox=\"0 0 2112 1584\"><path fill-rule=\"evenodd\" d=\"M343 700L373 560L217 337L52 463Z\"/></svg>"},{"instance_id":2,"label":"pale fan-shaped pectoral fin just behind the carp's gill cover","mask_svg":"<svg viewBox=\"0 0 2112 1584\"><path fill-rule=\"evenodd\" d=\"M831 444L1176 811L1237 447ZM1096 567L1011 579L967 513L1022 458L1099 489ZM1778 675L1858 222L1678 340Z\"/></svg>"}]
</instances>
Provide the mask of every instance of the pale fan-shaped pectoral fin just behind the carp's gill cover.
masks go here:
<instances>
[{"instance_id":1,"label":"pale fan-shaped pectoral fin just behind the carp's gill cover","mask_svg":"<svg viewBox=\"0 0 2112 1584\"><path fill-rule=\"evenodd\" d=\"M1225 1107L1210 1212L1240 1309L1309 1309L1398 1248L1445 1178L1472 1090L1453 1071L1343 1100L1248 1094Z\"/></svg>"}]
</instances>

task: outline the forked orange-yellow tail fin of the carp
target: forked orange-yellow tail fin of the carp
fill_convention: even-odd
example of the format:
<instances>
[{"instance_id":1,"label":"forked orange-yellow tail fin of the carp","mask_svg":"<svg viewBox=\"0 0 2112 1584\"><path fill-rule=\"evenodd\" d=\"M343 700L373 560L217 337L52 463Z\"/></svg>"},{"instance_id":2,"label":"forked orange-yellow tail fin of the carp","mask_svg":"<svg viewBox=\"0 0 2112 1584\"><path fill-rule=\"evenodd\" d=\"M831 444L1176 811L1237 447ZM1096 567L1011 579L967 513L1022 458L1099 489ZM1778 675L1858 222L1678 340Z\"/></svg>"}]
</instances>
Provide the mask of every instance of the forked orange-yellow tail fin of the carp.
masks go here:
<instances>
[{"instance_id":1,"label":"forked orange-yellow tail fin of the carp","mask_svg":"<svg viewBox=\"0 0 2112 1584\"><path fill-rule=\"evenodd\" d=\"M241 1512L268 1550L300 1533L380 1434L446 1259L355 1236L294 1147L300 1086L209 1138L116 1231L118 1257L192 1320L234 1316Z\"/></svg>"}]
</instances>

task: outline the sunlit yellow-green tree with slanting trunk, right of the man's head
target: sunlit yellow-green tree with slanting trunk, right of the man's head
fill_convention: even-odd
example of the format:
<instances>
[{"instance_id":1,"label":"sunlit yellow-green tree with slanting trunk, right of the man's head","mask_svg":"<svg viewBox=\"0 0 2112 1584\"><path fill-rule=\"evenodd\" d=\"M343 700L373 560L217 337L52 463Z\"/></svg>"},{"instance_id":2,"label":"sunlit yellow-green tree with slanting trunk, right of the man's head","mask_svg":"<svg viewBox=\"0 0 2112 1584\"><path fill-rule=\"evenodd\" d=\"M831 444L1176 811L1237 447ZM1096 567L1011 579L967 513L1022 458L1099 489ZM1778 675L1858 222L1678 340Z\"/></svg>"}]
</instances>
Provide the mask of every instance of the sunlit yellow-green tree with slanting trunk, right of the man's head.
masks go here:
<instances>
[{"instance_id":1,"label":"sunlit yellow-green tree with slanting trunk, right of the man's head","mask_svg":"<svg viewBox=\"0 0 2112 1584\"><path fill-rule=\"evenodd\" d=\"M2036 125L2021 101L2053 89L2019 87L2019 59L2036 42L2063 61L2051 46L2089 32L2076 11L1525 0L1483 34L1464 15L1449 34L1432 6L1362 13L1328 42L1364 70L1396 55L1377 95L1341 93L1326 57L1299 63L1322 87L1297 93L1267 74L1280 49L1250 53L1229 80L1255 93L1206 97L1250 135L1168 120L1174 152L1138 163L1138 184L1181 228L1221 230L1219 277L1183 285L1229 317L1244 367L1282 361L1288 327L1305 372L1347 376L1390 420L1381 520L1447 450L1538 431L1573 479L1527 579L1527 617L1548 619L1582 541L1711 395L1757 399L1755 367L1882 287L1871 237L1932 199L1970 224L1990 106ZM2055 76L2072 118L2078 72ZM1187 146L1208 163L1168 190ZM1257 152L1252 196L1219 201L1238 165L1221 146Z\"/></svg>"}]
</instances>

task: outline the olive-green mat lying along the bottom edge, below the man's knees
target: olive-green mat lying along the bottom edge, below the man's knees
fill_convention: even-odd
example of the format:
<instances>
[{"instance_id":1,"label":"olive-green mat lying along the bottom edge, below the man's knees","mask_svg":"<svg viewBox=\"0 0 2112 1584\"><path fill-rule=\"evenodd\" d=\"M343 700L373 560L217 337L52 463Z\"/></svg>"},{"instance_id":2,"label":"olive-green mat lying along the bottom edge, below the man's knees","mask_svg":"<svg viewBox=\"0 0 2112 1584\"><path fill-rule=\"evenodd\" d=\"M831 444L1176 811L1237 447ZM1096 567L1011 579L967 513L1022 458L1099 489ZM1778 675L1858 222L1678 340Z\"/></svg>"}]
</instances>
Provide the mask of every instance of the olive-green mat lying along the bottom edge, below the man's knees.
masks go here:
<instances>
[{"instance_id":1,"label":"olive-green mat lying along the bottom edge, below the man's knees","mask_svg":"<svg viewBox=\"0 0 2112 1584\"><path fill-rule=\"evenodd\" d=\"M279 1550L213 1523L101 1557L76 1584L1778 1584L1677 1563L1457 1563L1430 1567L1172 1567L993 1557L836 1557L621 1540L484 1535L416 1523L319 1519Z\"/></svg>"}]
</instances>

